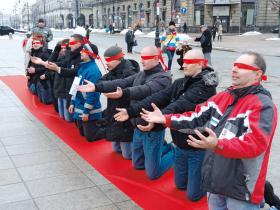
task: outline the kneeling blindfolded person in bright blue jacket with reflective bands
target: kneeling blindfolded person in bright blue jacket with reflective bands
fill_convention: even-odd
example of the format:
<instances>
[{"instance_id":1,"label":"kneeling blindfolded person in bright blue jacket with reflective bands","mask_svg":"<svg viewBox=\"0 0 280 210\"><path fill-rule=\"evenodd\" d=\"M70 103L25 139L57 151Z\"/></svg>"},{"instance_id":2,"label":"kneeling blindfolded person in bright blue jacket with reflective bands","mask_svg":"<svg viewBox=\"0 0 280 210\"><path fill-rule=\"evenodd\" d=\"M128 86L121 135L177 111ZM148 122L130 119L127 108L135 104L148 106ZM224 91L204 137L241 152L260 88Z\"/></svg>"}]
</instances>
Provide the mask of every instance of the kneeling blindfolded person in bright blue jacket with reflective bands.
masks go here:
<instances>
[{"instance_id":1,"label":"kneeling blindfolded person in bright blue jacket with reflective bands","mask_svg":"<svg viewBox=\"0 0 280 210\"><path fill-rule=\"evenodd\" d=\"M101 78L101 72L95 63L98 55L98 48L93 44L85 44L81 50L81 64L78 69L77 77L79 84L84 81L96 83ZM72 95L69 112L73 113L73 118L82 136L88 141L99 140L97 120L102 117L100 103L100 93L82 93L77 91Z\"/></svg>"}]
</instances>

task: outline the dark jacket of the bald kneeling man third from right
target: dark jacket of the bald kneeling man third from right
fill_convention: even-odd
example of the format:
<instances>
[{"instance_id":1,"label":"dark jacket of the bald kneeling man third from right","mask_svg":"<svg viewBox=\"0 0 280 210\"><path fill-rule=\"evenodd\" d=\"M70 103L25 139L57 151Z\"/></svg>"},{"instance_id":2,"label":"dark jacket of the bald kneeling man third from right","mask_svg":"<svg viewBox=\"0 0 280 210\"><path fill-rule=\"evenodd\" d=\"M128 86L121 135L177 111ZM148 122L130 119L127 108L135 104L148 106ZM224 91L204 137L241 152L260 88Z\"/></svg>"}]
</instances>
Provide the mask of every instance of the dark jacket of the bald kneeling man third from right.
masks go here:
<instances>
[{"instance_id":1,"label":"dark jacket of the bald kneeling man third from right","mask_svg":"<svg viewBox=\"0 0 280 210\"><path fill-rule=\"evenodd\" d=\"M98 92L113 92L117 87L123 89L122 98L130 100L130 105L135 104L137 101L143 100L146 97L165 89L171 84L171 77L166 73L161 64L146 71L140 71L137 74L129 76L125 79L118 79L111 82L101 82L96 85ZM137 124L147 125L141 118L132 119L133 126Z\"/></svg>"}]
</instances>

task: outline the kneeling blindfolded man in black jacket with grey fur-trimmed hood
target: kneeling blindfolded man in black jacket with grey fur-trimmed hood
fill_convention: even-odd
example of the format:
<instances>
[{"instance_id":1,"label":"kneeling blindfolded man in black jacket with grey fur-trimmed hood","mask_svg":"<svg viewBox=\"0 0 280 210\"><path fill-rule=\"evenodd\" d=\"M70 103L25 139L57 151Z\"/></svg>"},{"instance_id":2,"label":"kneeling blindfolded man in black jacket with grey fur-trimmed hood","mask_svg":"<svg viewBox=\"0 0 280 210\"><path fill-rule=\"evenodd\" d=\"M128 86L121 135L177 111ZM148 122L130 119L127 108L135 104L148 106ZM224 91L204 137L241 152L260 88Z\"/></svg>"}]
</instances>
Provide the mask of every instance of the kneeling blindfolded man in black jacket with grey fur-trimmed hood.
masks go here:
<instances>
[{"instance_id":1,"label":"kneeling blindfolded man in black jacket with grey fur-trimmed hood","mask_svg":"<svg viewBox=\"0 0 280 210\"><path fill-rule=\"evenodd\" d=\"M157 104L164 114L193 111L197 104L206 101L216 93L217 75L213 69L207 67L201 51L188 51L184 56L183 66L185 77L175 80L169 88L154 93L127 109L118 109L119 112L115 115L116 120L125 121L128 118L138 117L142 108L152 109L151 103ZM154 126L150 123L150 126L144 129L149 131ZM179 189L187 190L186 194L190 200L197 201L206 194L201 187L201 166L205 150L187 145L187 134L171 130L171 136L176 145L175 185ZM160 152L160 150L155 152Z\"/></svg>"}]
</instances>

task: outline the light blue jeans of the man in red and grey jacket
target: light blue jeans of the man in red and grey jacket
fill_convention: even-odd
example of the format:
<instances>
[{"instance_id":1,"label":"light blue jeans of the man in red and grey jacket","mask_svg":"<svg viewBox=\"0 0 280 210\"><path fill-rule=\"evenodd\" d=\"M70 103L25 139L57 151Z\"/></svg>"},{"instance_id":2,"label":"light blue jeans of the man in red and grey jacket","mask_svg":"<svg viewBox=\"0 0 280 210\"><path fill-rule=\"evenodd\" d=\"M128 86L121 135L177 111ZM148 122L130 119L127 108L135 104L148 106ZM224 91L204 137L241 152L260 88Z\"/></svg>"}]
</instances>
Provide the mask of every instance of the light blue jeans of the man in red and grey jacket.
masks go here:
<instances>
[{"instance_id":1,"label":"light blue jeans of the man in red and grey jacket","mask_svg":"<svg viewBox=\"0 0 280 210\"><path fill-rule=\"evenodd\" d=\"M258 204L236 200L227 196L208 193L209 210L258 210Z\"/></svg>"}]
</instances>

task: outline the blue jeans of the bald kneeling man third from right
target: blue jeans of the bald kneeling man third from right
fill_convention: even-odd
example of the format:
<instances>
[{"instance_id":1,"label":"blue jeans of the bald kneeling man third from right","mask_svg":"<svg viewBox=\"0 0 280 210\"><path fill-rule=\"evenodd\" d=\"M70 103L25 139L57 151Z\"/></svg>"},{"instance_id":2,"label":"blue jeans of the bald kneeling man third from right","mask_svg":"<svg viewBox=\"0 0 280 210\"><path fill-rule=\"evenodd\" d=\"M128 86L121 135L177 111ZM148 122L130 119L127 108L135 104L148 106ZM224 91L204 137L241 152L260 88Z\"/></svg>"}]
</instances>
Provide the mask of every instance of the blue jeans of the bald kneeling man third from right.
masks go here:
<instances>
[{"instance_id":1,"label":"blue jeans of the bald kneeling man third from right","mask_svg":"<svg viewBox=\"0 0 280 210\"><path fill-rule=\"evenodd\" d=\"M166 151L165 131L142 132L134 129L132 142L132 164L136 169L146 169L150 179L157 179L171 168L174 160L173 147ZM165 153L163 151L165 150Z\"/></svg>"}]
</instances>

